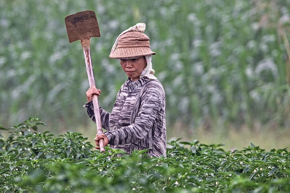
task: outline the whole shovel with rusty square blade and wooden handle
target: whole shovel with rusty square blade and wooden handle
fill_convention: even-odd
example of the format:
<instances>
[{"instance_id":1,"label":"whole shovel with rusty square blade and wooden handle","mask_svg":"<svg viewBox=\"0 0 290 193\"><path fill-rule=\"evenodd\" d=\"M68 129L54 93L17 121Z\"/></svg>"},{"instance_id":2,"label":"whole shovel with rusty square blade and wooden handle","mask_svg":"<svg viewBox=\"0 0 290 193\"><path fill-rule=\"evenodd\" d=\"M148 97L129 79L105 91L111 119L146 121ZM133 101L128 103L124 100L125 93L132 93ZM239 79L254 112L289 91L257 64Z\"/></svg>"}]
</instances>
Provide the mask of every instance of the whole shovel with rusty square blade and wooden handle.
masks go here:
<instances>
[{"instance_id":1,"label":"whole shovel with rusty square blade and wooden handle","mask_svg":"<svg viewBox=\"0 0 290 193\"><path fill-rule=\"evenodd\" d=\"M66 23L66 31L68 33L69 42L72 43L74 41L81 40L81 47L84 50L90 87L96 87L92 60L90 56L90 38L101 36L96 14L92 10L86 10L68 15L65 17L64 20ZM97 124L97 133L101 135L103 133L103 129L97 95L93 95L93 105ZM101 139L99 143L100 143L100 151L101 152L105 151L104 140Z\"/></svg>"}]
</instances>

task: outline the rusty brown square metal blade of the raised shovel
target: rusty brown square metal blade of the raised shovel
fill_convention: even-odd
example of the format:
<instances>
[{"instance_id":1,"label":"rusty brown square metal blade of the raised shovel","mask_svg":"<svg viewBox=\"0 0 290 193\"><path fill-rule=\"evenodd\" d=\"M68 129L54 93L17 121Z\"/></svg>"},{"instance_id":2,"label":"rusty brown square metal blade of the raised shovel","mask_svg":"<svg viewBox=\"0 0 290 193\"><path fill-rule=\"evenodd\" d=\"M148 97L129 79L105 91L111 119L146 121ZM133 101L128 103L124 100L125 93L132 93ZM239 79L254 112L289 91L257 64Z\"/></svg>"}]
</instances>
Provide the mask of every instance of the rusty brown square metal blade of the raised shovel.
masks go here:
<instances>
[{"instance_id":1,"label":"rusty brown square metal blade of the raised shovel","mask_svg":"<svg viewBox=\"0 0 290 193\"><path fill-rule=\"evenodd\" d=\"M101 36L96 14L92 10L68 15L64 21L70 43Z\"/></svg>"}]
</instances>

